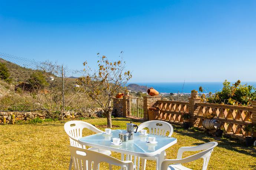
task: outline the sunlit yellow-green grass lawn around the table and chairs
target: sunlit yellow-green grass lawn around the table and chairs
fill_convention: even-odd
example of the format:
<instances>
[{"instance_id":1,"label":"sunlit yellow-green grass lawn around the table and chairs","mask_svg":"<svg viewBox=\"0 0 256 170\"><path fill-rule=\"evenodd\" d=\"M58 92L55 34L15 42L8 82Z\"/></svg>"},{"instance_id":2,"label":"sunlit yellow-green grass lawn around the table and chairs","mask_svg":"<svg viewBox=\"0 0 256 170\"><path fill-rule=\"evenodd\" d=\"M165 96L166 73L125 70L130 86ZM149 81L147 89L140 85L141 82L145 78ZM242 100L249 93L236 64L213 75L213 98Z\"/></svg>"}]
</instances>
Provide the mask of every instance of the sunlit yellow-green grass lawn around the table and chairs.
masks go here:
<instances>
[{"instance_id":1,"label":"sunlit yellow-green grass lawn around the table and chairs","mask_svg":"<svg viewBox=\"0 0 256 170\"><path fill-rule=\"evenodd\" d=\"M130 119L113 119L113 129L126 129L126 123ZM106 119L83 120L94 124L101 130L106 128ZM63 126L65 121L52 121L36 124L16 124L0 126L0 169L1 170L41 170L58 169L67 170L70 154L66 145L69 139ZM134 123L140 124L134 120ZM175 159L177 151L182 146L197 146L209 141L217 141L219 145L214 148L209 161L209 170L229 169L256 169L256 149L247 148L243 143L231 141L226 138L214 138L205 133L194 130L184 130L179 126L173 126L173 137L177 138L177 144L166 150L167 159ZM93 132L84 130L83 135ZM185 153L188 156L191 153ZM121 154L112 153L112 156L120 159ZM185 166L199 170L202 160L185 164ZM101 169L108 169L106 163L101 164ZM118 169L114 167L113 169ZM147 169L155 169L154 161L147 161Z\"/></svg>"}]
</instances>

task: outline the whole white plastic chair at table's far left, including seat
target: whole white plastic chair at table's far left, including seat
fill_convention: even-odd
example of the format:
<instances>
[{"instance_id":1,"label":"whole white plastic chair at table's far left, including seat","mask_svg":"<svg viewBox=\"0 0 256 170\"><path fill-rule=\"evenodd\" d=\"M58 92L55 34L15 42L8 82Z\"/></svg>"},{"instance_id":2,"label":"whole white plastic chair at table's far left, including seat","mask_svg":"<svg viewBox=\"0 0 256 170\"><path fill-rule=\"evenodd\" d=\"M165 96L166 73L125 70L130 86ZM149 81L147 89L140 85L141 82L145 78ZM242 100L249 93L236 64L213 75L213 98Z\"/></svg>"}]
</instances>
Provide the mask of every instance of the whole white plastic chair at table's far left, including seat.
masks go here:
<instances>
[{"instance_id":1,"label":"whole white plastic chair at table's far left, including seat","mask_svg":"<svg viewBox=\"0 0 256 170\"><path fill-rule=\"evenodd\" d=\"M71 126L71 125L73 125L73 126ZM87 123L85 121L78 121L78 120L68 121L64 124L64 129L69 136L70 146L86 149L85 146L82 146L81 144L79 144L79 141L78 141L78 139L82 137L82 130L84 128L92 130L95 133L103 132L102 130L99 130L92 124ZM109 151L109 150L98 149L95 147L90 147L90 148L88 148L88 150L96 151L96 152L106 154L106 155L111 155L111 151ZM70 158L69 170L71 170L71 168L72 168L72 159Z\"/></svg>"}]
</instances>

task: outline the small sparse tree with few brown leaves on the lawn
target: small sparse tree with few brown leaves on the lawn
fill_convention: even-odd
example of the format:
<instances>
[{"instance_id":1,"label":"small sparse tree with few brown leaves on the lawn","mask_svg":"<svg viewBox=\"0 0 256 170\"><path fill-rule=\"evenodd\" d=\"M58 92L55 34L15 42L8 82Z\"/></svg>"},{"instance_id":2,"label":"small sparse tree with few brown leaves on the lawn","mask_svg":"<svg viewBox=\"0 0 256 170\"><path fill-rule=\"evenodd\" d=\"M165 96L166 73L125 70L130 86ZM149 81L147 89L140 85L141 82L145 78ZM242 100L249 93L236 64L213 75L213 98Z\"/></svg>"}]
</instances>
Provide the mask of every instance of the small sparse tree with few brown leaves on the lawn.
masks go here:
<instances>
[{"instance_id":1,"label":"small sparse tree with few brown leaves on the lawn","mask_svg":"<svg viewBox=\"0 0 256 170\"><path fill-rule=\"evenodd\" d=\"M116 92L125 86L132 75L130 71L125 71L125 61L122 59L110 62L106 56L102 56L97 62L99 63L98 70L94 71L91 70L86 61L83 63L85 76L78 78L78 84L103 109L107 118L107 126L112 127L111 99Z\"/></svg>"}]
</instances>

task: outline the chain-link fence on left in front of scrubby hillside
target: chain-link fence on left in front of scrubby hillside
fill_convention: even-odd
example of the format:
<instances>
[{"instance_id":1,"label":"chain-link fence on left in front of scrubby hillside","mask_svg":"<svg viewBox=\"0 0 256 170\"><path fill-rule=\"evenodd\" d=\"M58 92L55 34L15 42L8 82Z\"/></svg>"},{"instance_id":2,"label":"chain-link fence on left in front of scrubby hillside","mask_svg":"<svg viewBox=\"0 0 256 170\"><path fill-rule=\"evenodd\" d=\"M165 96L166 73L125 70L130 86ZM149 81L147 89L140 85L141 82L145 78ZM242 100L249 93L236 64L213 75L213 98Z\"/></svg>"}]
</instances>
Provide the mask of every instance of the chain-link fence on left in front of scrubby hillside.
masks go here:
<instances>
[{"instance_id":1,"label":"chain-link fence on left in front of scrubby hillside","mask_svg":"<svg viewBox=\"0 0 256 170\"><path fill-rule=\"evenodd\" d=\"M82 70L5 53L0 53L0 63L10 74L9 83L1 81L1 111L39 110L46 117L63 117L65 110L82 113L85 107L96 107L76 84Z\"/></svg>"}]
</instances>

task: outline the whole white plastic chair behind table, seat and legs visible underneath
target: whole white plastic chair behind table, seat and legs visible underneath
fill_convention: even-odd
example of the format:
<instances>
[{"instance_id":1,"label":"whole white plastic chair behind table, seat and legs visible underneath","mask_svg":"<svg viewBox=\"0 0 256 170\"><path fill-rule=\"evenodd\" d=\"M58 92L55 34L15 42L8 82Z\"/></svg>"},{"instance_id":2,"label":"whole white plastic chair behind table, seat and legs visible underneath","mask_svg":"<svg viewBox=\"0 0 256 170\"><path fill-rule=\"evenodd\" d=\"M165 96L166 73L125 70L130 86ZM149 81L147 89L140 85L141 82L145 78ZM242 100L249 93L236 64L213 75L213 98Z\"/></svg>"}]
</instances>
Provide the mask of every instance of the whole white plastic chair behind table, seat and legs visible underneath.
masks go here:
<instances>
[{"instance_id":1,"label":"whole white plastic chair behind table, seat and legs visible underneath","mask_svg":"<svg viewBox=\"0 0 256 170\"><path fill-rule=\"evenodd\" d=\"M138 132L144 128L148 128L148 132L150 134L156 134L156 135L161 135L161 136L166 136L167 131L169 132L168 137L171 137L171 135L173 134L173 126L171 126L170 123L166 122L166 121L161 121L161 120L151 120L151 121L146 121L144 123L141 123L138 126ZM138 133L137 132L137 133ZM164 153L164 156L166 158L166 153ZM131 156L128 156L131 157ZM124 154L121 155L121 160L124 160ZM138 167L140 166L140 159L141 159L141 169L145 170L146 168L146 163L147 160L157 160L156 156L152 156L152 157L138 157ZM131 159L130 159L131 160ZM134 158L134 160L136 160L136 157ZM134 161L135 164L135 169L136 169L136 161Z\"/></svg>"}]
</instances>

